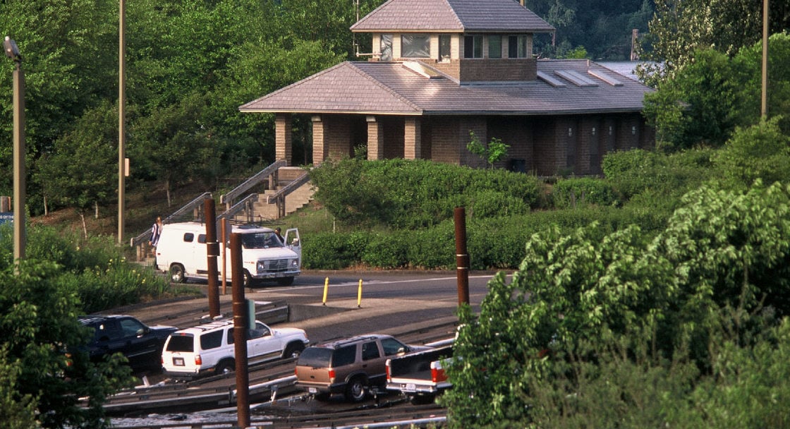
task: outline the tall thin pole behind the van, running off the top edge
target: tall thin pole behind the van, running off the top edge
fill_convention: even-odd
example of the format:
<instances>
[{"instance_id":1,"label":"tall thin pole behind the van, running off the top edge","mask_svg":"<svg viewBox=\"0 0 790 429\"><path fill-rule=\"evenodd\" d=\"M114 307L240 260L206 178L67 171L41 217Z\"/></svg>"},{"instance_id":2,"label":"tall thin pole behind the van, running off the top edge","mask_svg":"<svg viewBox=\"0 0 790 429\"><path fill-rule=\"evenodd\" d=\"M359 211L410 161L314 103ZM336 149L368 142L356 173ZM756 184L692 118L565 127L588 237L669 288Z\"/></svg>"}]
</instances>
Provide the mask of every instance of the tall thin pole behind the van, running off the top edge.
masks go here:
<instances>
[{"instance_id":1,"label":"tall thin pole behind the van, running off the top edge","mask_svg":"<svg viewBox=\"0 0 790 429\"><path fill-rule=\"evenodd\" d=\"M126 0L120 0L118 26L118 243L122 244L126 210Z\"/></svg>"}]
</instances>

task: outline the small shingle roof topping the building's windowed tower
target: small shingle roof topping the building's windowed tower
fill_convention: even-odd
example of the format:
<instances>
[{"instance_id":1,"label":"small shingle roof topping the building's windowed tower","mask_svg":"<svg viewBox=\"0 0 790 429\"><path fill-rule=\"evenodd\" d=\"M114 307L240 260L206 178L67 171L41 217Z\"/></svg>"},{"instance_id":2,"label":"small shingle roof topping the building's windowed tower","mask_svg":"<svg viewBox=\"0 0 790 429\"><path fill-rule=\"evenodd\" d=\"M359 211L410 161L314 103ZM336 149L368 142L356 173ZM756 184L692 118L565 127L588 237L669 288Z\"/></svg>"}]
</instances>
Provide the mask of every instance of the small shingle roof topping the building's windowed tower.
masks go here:
<instances>
[{"instance_id":1,"label":"small shingle roof topping the building's windowed tower","mask_svg":"<svg viewBox=\"0 0 790 429\"><path fill-rule=\"evenodd\" d=\"M513 0L389 0L352 32L554 32Z\"/></svg>"}]
</instances>

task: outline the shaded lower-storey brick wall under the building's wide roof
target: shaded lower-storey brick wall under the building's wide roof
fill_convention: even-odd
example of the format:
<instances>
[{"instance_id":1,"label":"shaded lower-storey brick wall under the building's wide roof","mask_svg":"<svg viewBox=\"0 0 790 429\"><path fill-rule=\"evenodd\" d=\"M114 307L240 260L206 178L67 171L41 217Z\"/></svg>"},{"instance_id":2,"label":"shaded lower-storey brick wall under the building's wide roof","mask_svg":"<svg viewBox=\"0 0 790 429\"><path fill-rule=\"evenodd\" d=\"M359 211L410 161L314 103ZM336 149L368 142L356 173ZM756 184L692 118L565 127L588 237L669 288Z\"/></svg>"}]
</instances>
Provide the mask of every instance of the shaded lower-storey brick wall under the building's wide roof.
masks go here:
<instances>
[{"instance_id":1,"label":"shaded lower-storey brick wall under the building's wide roof","mask_svg":"<svg viewBox=\"0 0 790 429\"><path fill-rule=\"evenodd\" d=\"M319 117L314 116L313 122L316 165L329 156L352 156L354 145L367 143L369 156L378 152L375 159L422 158L487 167L486 160L466 149L470 131L484 145L492 137L510 145L506 160L495 167L517 167L518 171L536 175L599 175L606 153L655 147L653 129L637 113L561 117L384 115L375 118L375 125L366 122L363 115L322 115L318 122L315 118ZM375 148L378 136L382 141L380 151Z\"/></svg>"}]
</instances>

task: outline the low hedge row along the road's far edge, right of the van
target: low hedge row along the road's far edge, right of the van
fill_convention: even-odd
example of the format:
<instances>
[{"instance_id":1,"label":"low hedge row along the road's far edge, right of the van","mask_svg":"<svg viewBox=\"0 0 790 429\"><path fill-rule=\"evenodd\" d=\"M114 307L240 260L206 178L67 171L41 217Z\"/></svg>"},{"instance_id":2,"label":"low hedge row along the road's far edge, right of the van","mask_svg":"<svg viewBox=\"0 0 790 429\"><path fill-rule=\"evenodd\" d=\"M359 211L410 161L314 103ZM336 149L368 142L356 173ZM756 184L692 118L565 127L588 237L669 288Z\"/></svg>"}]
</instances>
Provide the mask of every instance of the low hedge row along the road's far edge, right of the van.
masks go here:
<instances>
[{"instance_id":1,"label":"low hedge row along the road's far edge, right of the van","mask_svg":"<svg viewBox=\"0 0 790 429\"><path fill-rule=\"evenodd\" d=\"M498 218L468 216L467 250L472 269L516 269L530 237L556 224L563 231L597 221L602 233L627 224L647 232L664 228L669 210L589 207L539 211ZM446 220L431 228L393 231L323 232L304 240L305 269L454 269L455 228Z\"/></svg>"}]
</instances>

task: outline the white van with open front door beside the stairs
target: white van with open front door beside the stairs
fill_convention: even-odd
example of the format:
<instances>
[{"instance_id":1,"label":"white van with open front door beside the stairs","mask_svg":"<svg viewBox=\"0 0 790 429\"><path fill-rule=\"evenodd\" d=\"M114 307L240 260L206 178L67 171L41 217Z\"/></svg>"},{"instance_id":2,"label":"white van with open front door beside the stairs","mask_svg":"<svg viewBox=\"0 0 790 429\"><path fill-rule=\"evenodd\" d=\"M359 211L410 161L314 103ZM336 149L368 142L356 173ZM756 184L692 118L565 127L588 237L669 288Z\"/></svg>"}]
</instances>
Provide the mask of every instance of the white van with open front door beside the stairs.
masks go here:
<instances>
[{"instance_id":1,"label":"white van with open front door beside the stairs","mask_svg":"<svg viewBox=\"0 0 790 429\"><path fill-rule=\"evenodd\" d=\"M250 286L255 280L276 280L278 284L293 284L294 277L301 273L302 242L296 228L285 231L281 242L271 228L255 225L234 225L228 233L225 264L223 269L222 252L216 258L217 267L225 278L231 280L230 235L241 234L242 272L244 285ZM220 234L216 235L220 241ZM175 283L189 278L208 278L208 258L205 243L205 224L184 222L165 224L159 244L156 246L156 268L170 273ZM220 277L221 278L221 277Z\"/></svg>"}]
</instances>

